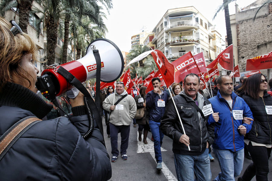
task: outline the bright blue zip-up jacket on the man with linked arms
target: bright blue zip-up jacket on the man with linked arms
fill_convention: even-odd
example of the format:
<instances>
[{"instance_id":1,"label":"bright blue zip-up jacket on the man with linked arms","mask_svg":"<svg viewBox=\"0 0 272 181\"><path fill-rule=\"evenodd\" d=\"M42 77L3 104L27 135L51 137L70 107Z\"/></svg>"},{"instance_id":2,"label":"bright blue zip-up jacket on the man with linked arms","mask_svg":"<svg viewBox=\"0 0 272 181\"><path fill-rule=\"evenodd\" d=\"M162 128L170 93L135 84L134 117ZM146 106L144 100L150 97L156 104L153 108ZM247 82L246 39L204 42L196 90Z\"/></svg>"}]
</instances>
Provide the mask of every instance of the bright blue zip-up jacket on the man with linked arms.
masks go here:
<instances>
[{"instance_id":1,"label":"bright blue zip-up jacket on the man with linked arms","mask_svg":"<svg viewBox=\"0 0 272 181\"><path fill-rule=\"evenodd\" d=\"M238 127L243 125L247 129L247 133L251 130L251 125L243 123L243 120L236 120L233 117L232 110L243 110L243 117L253 119L251 110L245 101L232 92L232 108L228 102L221 96L220 91L217 96L209 99L212 103L212 109L215 113L219 112L219 121L215 123L215 139L212 144L213 148L220 150L238 151L244 148L244 135L241 135ZM208 123L213 123L215 120L210 116Z\"/></svg>"}]
</instances>

